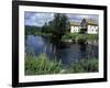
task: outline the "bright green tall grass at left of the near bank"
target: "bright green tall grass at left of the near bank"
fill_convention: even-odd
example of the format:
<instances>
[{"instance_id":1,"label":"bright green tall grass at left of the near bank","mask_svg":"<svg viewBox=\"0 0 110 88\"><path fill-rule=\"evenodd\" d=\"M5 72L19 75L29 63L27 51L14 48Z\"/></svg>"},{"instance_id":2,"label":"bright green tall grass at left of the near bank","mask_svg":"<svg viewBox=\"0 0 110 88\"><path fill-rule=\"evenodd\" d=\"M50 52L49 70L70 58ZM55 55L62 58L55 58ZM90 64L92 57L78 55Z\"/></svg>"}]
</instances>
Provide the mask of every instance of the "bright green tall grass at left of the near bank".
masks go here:
<instances>
[{"instance_id":1,"label":"bright green tall grass at left of the near bank","mask_svg":"<svg viewBox=\"0 0 110 88\"><path fill-rule=\"evenodd\" d=\"M61 62L50 61L45 54L25 57L25 75L58 74L62 68Z\"/></svg>"}]
</instances>

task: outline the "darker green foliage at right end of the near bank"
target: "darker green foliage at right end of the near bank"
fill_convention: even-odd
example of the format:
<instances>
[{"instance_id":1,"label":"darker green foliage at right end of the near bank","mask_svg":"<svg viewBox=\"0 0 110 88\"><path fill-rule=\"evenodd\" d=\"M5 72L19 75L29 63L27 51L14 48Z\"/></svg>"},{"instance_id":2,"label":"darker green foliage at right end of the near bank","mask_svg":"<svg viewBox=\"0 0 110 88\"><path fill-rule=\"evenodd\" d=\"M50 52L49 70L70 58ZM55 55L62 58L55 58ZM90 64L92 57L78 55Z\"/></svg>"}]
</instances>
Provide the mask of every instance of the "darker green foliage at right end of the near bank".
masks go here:
<instances>
[{"instance_id":1,"label":"darker green foliage at right end of the near bank","mask_svg":"<svg viewBox=\"0 0 110 88\"><path fill-rule=\"evenodd\" d=\"M98 58L81 59L72 64L72 73L94 73L98 72Z\"/></svg>"}]
</instances>

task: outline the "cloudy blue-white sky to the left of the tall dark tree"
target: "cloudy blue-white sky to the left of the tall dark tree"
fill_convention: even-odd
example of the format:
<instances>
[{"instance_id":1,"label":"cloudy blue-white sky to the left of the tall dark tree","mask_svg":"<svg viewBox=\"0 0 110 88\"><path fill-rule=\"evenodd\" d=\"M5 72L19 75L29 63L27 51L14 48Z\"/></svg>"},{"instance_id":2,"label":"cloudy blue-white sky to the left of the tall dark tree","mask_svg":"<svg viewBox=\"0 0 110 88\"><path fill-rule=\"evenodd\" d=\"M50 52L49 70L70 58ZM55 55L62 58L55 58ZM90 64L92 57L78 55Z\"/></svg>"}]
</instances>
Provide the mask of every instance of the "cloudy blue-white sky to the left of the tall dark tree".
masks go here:
<instances>
[{"instance_id":1,"label":"cloudy blue-white sky to the left of the tall dark tree","mask_svg":"<svg viewBox=\"0 0 110 88\"><path fill-rule=\"evenodd\" d=\"M53 13L25 12L25 25L42 26L45 22L53 20Z\"/></svg>"}]
</instances>

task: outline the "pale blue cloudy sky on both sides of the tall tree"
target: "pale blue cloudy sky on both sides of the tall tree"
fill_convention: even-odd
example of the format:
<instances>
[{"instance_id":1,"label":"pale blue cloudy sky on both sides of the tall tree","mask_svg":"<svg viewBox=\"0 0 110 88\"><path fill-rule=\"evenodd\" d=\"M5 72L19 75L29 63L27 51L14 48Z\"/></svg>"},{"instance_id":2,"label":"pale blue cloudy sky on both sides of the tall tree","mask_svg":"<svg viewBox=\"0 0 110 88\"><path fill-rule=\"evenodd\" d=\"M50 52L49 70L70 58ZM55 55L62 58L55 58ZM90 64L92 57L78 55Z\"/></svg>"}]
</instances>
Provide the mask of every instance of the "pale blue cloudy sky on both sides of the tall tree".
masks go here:
<instances>
[{"instance_id":1,"label":"pale blue cloudy sky on both sides of the tall tree","mask_svg":"<svg viewBox=\"0 0 110 88\"><path fill-rule=\"evenodd\" d=\"M98 22L98 15L92 14L66 14L69 21L80 22L85 19L94 19ZM36 25L42 26L45 22L52 21L54 13L40 13L40 12L25 12L24 13L24 24L25 25Z\"/></svg>"}]
</instances>

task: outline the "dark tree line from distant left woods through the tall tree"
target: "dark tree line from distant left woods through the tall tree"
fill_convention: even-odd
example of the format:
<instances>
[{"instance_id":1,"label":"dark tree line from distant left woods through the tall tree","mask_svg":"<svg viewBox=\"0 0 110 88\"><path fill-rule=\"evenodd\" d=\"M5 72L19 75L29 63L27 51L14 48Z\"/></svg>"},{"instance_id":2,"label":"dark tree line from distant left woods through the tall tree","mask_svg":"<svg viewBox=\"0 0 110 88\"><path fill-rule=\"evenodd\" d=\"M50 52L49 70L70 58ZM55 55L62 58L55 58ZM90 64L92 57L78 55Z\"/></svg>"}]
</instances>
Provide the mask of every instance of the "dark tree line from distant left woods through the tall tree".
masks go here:
<instances>
[{"instance_id":1,"label":"dark tree line from distant left woods through the tall tree","mask_svg":"<svg viewBox=\"0 0 110 88\"><path fill-rule=\"evenodd\" d=\"M51 33L52 37L62 38L70 30L70 23L66 14L55 13L54 19L50 22L45 22L43 26L25 26L25 34Z\"/></svg>"}]
</instances>

